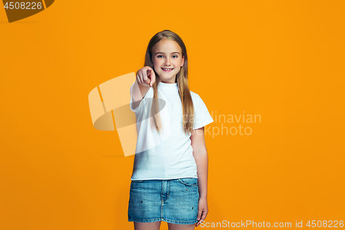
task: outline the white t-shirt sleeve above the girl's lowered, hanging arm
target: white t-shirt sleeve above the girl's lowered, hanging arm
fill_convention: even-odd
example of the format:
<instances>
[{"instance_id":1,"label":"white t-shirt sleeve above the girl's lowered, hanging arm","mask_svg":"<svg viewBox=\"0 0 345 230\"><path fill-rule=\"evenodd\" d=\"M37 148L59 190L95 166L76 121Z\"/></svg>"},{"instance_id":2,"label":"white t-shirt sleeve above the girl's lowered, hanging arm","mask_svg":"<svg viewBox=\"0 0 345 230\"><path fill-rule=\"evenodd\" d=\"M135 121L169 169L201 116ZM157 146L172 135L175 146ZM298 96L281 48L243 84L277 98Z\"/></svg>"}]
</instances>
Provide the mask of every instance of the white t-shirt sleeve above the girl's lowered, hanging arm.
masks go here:
<instances>
[{"instance_id":1,"label":"white t-shirt sleeve above the girl's lowered, hanging arm","mask_svg":"<svg viewBox=\"0 0 345 230\"><path fill-rule=\"evenodd\" d=\"M204 127L214 122L211 117L206 104L199 95L196 96L196 102L193 102L195 108L195 119L193 121L193 129Z\"/></svg>"}]
</instances>

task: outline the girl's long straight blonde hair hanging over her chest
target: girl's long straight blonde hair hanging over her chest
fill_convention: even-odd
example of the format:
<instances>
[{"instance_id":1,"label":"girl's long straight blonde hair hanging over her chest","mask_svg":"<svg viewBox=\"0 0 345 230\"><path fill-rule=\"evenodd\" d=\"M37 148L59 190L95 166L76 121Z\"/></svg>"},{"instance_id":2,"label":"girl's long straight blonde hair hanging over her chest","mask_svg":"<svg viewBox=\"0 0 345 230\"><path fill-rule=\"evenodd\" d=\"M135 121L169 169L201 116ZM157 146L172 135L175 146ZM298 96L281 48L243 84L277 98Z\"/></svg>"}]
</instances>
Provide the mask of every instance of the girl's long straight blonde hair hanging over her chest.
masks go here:
<instances>
[{"instance_id":1,"label":"girl's long straight blonde hair hanging over her chest","mask_svg":"<svg viewBox=\"0 0 345 230\"><path fill-rule=\"evenodd\" d=\"M182 54L181 57L184 57L184 65L179 70L175 78L175 83L179 88L179 97L181 99L182 104L182 111L183 111L183 130L184 133L192 133L193 130L193 122L194 122L194 106L192 96L190 95L190 90L188 86L188 57L187 57L187 50L186 46L184 45L184 41L182 41L181 37L177 35L175 32L170 30L163 30L161 32L157 32L155 36L153 36L150 41L148 42L148 48L146 49L145 55L145 64L144 66L152 67L152 47L155 46L159 41L162 39L169 39L171 41L175 41L179 47L181 47ZM153 68L152 68L153 69ZM155 71L155 70L154 70ZM156 130L161 133L161 120L159 116L156 116L159 113L159 99L158 99L158 84L159 84L159 77L155 71L156 81L155 84L152 85L153 89L153 99L152 99L152 106L151 106L151 115L153 122L152 128L156 128Z\"/></svg>"}]
</instances>

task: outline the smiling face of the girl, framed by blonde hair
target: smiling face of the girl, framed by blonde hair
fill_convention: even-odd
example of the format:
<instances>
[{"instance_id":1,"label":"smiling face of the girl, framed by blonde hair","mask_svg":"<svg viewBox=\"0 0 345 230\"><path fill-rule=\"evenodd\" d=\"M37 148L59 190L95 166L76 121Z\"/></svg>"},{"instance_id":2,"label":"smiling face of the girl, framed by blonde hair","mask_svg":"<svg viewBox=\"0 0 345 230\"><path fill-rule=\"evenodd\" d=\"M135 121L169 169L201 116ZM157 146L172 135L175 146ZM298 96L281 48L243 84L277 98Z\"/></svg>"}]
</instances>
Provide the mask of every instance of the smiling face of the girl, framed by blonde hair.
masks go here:
<instances>
[{"instance_id":1,"label":"smiling face of the girl, framed by blonde hair","mask_svg":"<svg viewBox=\"0 0 345 230\"><path fill-rule=\"evenodd\" d=\"M160 82L175 83L176 75L184 65L181 54L181 47L168 39L163 39L152 47L152 63Z\"/></svg>"}]
</instances>

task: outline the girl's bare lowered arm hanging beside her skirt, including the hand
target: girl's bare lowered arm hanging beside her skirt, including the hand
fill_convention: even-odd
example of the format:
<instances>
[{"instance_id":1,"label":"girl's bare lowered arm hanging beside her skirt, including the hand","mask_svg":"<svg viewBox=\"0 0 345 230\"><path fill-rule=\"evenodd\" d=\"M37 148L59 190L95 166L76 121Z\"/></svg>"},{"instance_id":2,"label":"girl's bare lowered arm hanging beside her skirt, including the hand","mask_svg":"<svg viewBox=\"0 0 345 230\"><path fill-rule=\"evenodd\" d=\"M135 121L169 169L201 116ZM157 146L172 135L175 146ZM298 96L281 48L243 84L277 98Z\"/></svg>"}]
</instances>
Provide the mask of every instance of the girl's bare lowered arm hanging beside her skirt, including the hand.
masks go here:
<instances>
[{"instance_id":1,"label":"girl's bare lowered arm hanging beside her skirt, including the hand","mask_svg":"<svg viewBox=\"0 0 345 230\"><path fill-rule=\"evenodd\" d=\"M197 227L201 221L205 220L208 213L207 205L207 179L208 179L208 154L205 143L204 127L193 130L190 135L193 155L197 164L197 177L199 184L199 210L197 214Z\"/></svg>"}]
</instances>

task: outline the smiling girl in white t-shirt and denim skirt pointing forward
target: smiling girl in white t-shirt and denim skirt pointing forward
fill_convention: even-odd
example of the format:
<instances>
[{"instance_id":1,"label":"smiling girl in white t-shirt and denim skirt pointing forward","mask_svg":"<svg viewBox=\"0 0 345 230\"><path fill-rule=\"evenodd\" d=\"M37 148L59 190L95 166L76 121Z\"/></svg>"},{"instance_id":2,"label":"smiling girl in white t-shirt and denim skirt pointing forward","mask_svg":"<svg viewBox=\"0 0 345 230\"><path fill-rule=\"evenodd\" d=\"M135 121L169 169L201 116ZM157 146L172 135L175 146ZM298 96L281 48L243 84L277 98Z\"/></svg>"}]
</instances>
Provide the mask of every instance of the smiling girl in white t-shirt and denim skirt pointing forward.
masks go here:
<instances>
[{"instance_id":1,"label":"smiling girl in white t-shirt and denim skirt pointing forward","mask_svg":"<svg viewBox=\"0 0 345 230\"><path fill-rule=\"evenodd\" d=\"M199 66L200 67L200 66ZM136 230L194 229L208 213L208 154L204 126L213 122L189 90L184 42L170 30L150 39L144 68L130 87L137 150L128 221Z\"/></svg>"}]
</instances>

